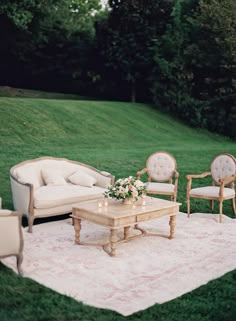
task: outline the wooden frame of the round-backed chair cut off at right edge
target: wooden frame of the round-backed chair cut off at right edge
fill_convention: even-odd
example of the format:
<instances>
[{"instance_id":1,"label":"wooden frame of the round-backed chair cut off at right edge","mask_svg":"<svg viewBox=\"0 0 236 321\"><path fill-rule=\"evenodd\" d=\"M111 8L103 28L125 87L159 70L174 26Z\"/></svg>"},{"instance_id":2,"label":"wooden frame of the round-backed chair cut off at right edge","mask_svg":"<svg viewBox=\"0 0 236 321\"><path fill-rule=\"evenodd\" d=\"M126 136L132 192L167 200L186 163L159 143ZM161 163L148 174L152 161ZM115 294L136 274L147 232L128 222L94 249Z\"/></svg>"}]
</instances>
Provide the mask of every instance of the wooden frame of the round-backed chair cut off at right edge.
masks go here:
<instances>
[{"instance_id":1,"label":"wooden frame of the round-backed chair cut off at right edge","mask_svg":"<svg viewBox=\"0 0 236 321\"><path fill-rule=\"evenodd\" d=\"M222 153L219 154L217 156L215 156L211 162L211 166L213 164L213 162L216 160L217 157L219 156L227 156L229 157L231 160L233 160L235 162L235 168L236 168L236 159L234 156L227 154L227 153ZM188 217L190 217L190 198L201 198L201 199L206 199L206 200L210 200L210 205L211 205L211 211L214 210L214 201L218 201L219 202L219 221L220 223L222 222L222 214L223 214L223 201L231 199L232 200L232 208L233 208L233 212L234 214L236 214L236 207L235 207L235 195L234 196L224 196L224 188L229 186L229 188L234 189L234 182L236 180L236 173L230 177L220 177L218 181L216 181L213 177L212 177L212 183L211 186L216 186L219 185L219 194L215 197L213 196L209 196L209 195L200 195L200 194L192 194L190 195L190 192L192 190L192 181L193 179L196 178L205 178L211 176L212 177L212 172L203 172L201 174L189 174L186 175L186 179L187 179L187 192L186 192L186 198L187 198L187 213L188 213Z\"/></svg>"}]
</instances>

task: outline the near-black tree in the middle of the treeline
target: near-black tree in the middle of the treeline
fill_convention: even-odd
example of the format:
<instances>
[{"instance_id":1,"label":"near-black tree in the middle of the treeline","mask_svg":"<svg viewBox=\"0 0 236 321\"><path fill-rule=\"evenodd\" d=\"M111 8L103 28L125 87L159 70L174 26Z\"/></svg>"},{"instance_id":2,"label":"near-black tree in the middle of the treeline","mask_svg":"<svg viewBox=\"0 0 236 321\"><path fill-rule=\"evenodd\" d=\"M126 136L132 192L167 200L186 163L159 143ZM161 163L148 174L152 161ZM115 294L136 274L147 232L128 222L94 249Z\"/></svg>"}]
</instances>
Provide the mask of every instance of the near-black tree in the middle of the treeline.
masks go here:
<instances>
[{"instance_id":1,"label":"near-black tree in the middle of the treeline","mask_svg":"<svg viewBox=\"0 0 236 321\"><path fill-rule=\"evenodd\" d=\"M99 51L117 96L136 100L148 94L153 41L165 30L171 0L110 0L107 21L97 27ZM101 39L99 41L99 39Z\"/></svg>"}]
</instances>

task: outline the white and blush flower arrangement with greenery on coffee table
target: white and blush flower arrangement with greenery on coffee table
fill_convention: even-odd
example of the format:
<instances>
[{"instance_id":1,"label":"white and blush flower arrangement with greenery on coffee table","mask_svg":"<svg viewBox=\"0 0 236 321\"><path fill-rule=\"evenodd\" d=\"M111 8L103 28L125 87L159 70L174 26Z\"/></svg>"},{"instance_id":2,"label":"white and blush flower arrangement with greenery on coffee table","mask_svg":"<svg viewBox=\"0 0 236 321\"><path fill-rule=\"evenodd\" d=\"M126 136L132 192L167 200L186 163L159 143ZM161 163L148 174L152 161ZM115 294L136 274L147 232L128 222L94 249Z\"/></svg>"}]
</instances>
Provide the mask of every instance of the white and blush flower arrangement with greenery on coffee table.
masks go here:
<instances>
[{"instance_id":1,"label":"white and blush flower arrangement with greenery on coffee table","mask_svg":"<svg viewBox=\"0 0 236 321\"><path fill-rule=\"evenodd\" d=\"M139 197L146 195L147 186L136 177L129 176L118 179L114 185L108 186L108 191L104 193L105 197L138 200Z\"/></svg>"}]
</instances>

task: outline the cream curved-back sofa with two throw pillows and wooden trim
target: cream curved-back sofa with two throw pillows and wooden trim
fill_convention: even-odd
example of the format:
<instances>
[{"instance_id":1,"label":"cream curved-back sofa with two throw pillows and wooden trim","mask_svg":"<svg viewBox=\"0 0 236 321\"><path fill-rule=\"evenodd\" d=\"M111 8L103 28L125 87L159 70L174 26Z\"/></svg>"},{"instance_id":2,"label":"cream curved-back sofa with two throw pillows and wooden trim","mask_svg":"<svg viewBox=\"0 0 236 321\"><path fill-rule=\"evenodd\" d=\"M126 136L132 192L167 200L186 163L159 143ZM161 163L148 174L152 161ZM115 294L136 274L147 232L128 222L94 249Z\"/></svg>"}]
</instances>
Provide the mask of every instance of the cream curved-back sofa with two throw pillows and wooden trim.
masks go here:
<instances>
[{"instance_id":1,"label":"cream curved-back sofa with two throw pillows and wooden trim","mask_svg":"<svg viewBox=\"0 0 236 321\"><path fill-rule=\"evenodd\" d=\"M103 197L114 176L89 165L65 158L40 157L21 162L10 169L13 205L34 220L71 213L81 201Z\"/></svg>"}]
</instances>

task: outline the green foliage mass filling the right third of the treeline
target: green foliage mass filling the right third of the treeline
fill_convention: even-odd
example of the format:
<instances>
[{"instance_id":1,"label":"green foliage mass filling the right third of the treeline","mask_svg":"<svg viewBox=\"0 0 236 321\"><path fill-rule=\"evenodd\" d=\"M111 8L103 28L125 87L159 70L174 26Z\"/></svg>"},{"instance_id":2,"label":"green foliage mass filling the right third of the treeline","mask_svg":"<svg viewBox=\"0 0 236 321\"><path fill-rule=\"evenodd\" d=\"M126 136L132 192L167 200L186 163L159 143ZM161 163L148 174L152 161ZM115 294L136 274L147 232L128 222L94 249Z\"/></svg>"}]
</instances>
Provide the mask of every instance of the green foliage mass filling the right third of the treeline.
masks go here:
<instances>
[{"instance_id":1,"label":"green foliage mass filling the right third of the treeline","mask_svg":"<svg viewBox=\"0 0 236 321\"><path fill-rule=\"evenodd\" d=\"M233 136L235 1L177 0L153 46L156 105L189 124Z\"/></svg>"}]
</instances>

